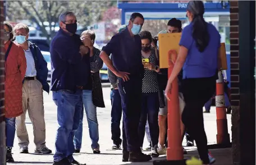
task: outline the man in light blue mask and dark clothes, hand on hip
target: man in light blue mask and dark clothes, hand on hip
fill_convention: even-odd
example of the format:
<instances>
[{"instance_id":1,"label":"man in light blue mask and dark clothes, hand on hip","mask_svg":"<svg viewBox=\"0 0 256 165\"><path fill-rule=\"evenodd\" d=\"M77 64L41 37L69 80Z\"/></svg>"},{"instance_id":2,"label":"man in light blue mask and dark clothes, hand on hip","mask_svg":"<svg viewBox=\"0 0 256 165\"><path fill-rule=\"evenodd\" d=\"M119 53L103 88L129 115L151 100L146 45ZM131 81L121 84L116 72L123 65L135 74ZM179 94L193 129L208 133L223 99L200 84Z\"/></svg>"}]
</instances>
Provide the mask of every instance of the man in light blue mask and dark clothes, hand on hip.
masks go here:
<instances>
[{"instance_id":1,"label":"man in light blue mask and dark clothes, hand on hip","mask_svg":"<svg viewBox=\"0 0 256 165\"><path fill-rule=\"evenodd\" d=\"M123 109L123 161L146 162L150 155L141 153L138 143L138 126L141 112L141 85L144 68L141 61L141 40L138 35L144 17L132 13L127 28L114 35L106 47L102 48L100 58L109 70L118 77L118 90ZM109 55L111 59L109 59Z\"/></svg>"}]
</instances>

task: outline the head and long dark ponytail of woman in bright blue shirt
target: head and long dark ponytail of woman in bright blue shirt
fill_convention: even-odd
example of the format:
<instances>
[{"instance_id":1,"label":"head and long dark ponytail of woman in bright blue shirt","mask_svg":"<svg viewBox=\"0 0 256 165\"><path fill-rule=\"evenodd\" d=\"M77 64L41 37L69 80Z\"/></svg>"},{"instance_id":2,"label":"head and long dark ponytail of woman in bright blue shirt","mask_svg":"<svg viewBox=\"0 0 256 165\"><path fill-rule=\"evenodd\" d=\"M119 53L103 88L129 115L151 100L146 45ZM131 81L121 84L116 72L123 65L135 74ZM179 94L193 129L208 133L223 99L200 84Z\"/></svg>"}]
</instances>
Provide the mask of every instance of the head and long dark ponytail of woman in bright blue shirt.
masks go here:
<instances>
[{"instance_id":1,"label":"head and long dark ponytail of woman in bright blue shirt","mask_svg":"<svg viewBox=\"0 0 256 165\"><path fill-rule=\"evenodd\" d=\"M209 44L207 22L203 18L204 3L202 1L190 1L187 10L193 13L194 18L192 35L199 52L203 52Z\"/></svg>"}]
</instances>

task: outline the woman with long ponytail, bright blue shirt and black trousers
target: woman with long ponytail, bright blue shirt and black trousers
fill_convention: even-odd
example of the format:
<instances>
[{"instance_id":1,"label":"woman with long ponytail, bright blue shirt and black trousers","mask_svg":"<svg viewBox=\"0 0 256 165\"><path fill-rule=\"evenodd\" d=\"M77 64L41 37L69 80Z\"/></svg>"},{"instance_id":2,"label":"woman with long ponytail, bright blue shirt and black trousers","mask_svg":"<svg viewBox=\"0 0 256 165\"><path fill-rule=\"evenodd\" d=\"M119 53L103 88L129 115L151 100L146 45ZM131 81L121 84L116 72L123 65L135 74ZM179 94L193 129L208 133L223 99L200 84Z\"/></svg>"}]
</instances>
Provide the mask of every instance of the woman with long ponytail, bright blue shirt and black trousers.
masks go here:
<instances>
[{"instance_id":1,"label":"woman with long ponytail, bright blue shirt and black trousers","mask_svg":"<svg viewBox=\"0 0 256 165\"><path fill-rule=\"evenodd\" d=\"M202 109L216 89L221 36L212 24L205 22L203 14L202 1L188 3L186 16L190 24L182 31L179 55L165 93L168 99L172 81L183 67L181 89L186 106L182 122L194 138L203 164L212 164L215 159L208 154Z\"/></svg>"}]
</instances>

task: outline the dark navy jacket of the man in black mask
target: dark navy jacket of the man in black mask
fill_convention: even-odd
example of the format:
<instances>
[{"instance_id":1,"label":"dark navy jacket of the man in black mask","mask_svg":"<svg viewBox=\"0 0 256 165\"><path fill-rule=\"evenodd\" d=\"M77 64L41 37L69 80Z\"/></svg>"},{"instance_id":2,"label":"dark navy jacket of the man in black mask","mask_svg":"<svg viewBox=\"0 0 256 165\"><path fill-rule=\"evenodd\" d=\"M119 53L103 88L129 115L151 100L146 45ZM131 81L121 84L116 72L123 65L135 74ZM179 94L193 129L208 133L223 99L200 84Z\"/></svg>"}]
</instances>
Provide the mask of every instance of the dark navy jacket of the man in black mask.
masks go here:
<instances>
[{"instance_id":1,"label":"dark navy jacket of the man in black mask","mask_svg":"<svg viewBox=\"0 0 256 165\"><path fill-rule=\"evenodd\" d=\"M60 29L52 39L50 53L52 61L51 90L75 91L76 86L91 89L89 54L81 57L79 35L70 36Z\"/></svg>"}]
</instances>

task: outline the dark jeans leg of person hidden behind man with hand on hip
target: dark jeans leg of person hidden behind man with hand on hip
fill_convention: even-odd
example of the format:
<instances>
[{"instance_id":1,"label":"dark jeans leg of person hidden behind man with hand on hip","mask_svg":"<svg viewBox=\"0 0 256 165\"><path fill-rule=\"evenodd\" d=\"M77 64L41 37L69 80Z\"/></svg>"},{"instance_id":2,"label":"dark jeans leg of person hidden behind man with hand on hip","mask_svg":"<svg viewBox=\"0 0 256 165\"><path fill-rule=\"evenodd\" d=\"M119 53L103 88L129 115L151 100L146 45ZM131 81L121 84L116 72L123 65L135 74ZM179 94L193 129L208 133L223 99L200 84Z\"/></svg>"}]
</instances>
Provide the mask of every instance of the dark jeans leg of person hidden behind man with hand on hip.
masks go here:
<instances>
[{"instance_id":1,"label":"dark jeans leg of person hidden behind man with hand on hip","mask_svg":"<svg viewBox=\"0 0 256 165\"><path fill-rule=\"evenodd\" d=\"M122 102L118 89L112 89L110 94L111 99L111 139L116 145L122 143L120 121L122 117Z\"/></svg>"}]
</instances>

